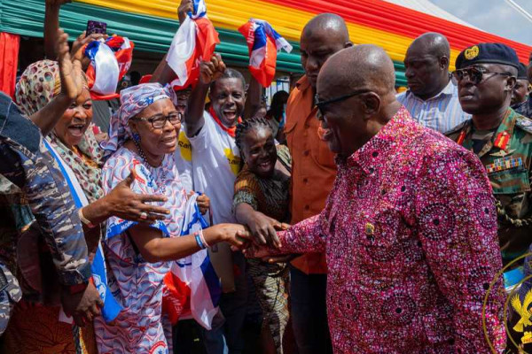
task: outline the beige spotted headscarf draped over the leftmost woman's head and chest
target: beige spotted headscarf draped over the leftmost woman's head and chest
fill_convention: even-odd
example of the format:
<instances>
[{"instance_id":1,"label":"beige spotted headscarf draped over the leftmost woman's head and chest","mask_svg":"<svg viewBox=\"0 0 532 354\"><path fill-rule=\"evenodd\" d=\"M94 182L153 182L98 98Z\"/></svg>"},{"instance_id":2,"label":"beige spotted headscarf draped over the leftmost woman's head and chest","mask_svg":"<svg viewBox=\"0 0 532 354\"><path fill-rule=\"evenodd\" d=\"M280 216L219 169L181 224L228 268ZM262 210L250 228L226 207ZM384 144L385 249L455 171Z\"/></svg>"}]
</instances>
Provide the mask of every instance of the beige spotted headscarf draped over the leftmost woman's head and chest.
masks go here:
<instances>
[{"instance_id":1,"label":"beige spotted headscarf draped over the leftmost woman's head and chest","mask_svg":"<svg viewBox=\"0 0 532 354\"><path fill-rule=\"evenodd\" d=\"M89 89L86 83L85 87ZM59 64L52 60L41 60L27 66L22 73L15 89L15 100L21 111L31 116L49 104L60 91ZM104 190L101 188L103 151L98 145L92 127L91 123L82 140L74 147L86 158L68 148L53 132L46 137L53 149L72 168L90 203L104 196Z\"/></svg>"}]
</instances>

